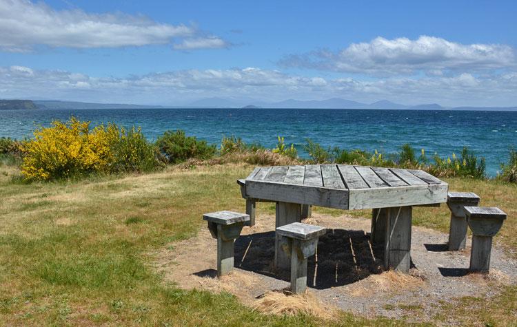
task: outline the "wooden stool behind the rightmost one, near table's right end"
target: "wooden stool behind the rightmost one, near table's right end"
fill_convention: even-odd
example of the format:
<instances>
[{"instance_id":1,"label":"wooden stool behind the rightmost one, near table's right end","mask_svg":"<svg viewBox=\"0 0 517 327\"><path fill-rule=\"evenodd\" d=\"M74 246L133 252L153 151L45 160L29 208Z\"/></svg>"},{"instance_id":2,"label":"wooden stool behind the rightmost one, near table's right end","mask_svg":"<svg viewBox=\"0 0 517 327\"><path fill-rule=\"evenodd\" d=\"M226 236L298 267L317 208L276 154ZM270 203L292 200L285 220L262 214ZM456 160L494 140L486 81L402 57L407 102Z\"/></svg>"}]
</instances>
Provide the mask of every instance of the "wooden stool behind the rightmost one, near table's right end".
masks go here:
<instances>
[{"instance_id":1,"label":"wooden stool behind the rightmost one, near table's right end","mask_svg":"<svg viewBox=\"0 0 517 327\"><path fill-rule=\"evenodd\" d=\"M467 242L467 218L463 207L477 207L479 196L474 193L449 192L447 207L451 210L449 251L464 250Z\"/></svg>"}]
</instances>

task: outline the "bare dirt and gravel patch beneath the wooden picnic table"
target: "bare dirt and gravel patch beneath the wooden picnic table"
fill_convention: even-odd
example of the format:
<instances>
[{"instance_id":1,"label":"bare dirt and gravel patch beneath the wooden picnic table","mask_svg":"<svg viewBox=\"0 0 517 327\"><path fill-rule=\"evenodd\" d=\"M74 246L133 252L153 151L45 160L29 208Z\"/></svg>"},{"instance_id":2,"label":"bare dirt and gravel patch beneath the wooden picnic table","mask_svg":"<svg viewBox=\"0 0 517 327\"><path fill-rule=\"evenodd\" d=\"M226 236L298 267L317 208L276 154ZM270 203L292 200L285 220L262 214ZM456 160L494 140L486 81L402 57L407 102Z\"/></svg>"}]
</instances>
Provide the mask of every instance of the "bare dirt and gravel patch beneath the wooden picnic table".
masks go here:
<instances>
[{"instance_id":1,"label":"bare dirt and gravel patch beneath the wooden picnic table","mask_svg":"<svg viewBox=\"0 0 517 327\"><path fill-rule=\"evenodd\" d=\"M207 228L194 238L174 243L173 249L163 249L156 266L168 282L181 288L228 291L253 305L256 297L267 291L289 286L289 272L276 275L272 269L274 216L260 215L256 222L256 226L245 227L236 240L234 272L222 279L214 277L216 240ZM489 277L469 275L469 247L445 251L446 234L415 226L410 275L383 273L382 246L370 244L369 220L316 213L305 222L328 229L320 238L317 255L309 259L307 281L310 292L329 307L387 317L401 317L404 308L417 308L418 319L430 319L439 301L491 296L494 285L517 280L517 263L496 247Z\"/></svg>"}]
</instances>

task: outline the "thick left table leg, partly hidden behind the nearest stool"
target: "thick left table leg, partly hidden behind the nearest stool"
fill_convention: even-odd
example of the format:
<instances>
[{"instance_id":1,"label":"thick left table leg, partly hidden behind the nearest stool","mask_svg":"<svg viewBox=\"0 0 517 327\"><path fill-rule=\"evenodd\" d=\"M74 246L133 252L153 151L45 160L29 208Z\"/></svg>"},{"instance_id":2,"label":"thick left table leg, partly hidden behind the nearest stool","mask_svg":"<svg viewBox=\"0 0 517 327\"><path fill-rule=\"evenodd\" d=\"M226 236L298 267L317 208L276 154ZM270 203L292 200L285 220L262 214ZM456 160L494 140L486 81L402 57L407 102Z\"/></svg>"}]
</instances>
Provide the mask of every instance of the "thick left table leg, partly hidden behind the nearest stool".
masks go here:
<instances>
[{"instance_id":1,"label":"thick left table leg, partly hidden behind the nearest stool","mask_svg":"<svg viewBox=\"0 0 517 327\"><path fill-rule=\"evenodd\" d=\"M291 224L292 222L301 222L301 205L289 202L276 202L276 227ZM276 269L285 269L290 267L290 257L287 256L282 247L287 249L289 246L287 239L279 237L275 233L274 245L274 266Z\"/></svg>"}]
</instances>

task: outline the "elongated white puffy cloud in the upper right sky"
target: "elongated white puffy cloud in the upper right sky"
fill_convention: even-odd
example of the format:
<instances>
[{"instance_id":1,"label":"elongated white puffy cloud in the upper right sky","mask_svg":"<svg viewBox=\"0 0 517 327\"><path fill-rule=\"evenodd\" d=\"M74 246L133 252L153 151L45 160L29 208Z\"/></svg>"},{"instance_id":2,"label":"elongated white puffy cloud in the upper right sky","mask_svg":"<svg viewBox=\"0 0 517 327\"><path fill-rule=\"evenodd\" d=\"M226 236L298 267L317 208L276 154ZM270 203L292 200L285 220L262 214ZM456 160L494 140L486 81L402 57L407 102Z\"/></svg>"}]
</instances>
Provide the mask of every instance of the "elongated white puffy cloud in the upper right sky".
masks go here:
<instances>
[{"instance_id":1,"label":"elongated white puffy cloud in the upper right sky","mask_svg":"<svg viewBox=\"0 0 517 327\"><path fill-rule=\"evenodd\" d=\"M434 36L416 40L381 36L367 43L352 43L332 52L317 50L285 56L281 65L316 70L389 76L426 72L443 75L444 71L465 72L507 69L516 66L514 50L508 45L460 44Z\"/></svg>"}]
</instances>

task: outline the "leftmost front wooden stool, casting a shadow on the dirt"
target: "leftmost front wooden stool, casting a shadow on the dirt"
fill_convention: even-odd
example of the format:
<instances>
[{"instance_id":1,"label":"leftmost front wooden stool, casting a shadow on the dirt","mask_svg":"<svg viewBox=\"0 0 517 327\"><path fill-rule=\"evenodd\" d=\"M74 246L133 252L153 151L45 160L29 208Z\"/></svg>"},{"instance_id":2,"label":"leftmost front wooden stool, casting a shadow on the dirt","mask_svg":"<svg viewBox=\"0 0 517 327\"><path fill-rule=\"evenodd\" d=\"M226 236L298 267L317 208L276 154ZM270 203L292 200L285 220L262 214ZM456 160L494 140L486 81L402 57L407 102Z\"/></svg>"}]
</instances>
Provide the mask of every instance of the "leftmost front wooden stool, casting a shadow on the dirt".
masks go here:
<instances>
[{"instance_id":1,"label":"leftmost front wooden stool, casting a shadow on the dirt","mask_svg":"<svg viewBox=\"0 0 517 327\"><path fill-rule=\"evenodd\" d=\"M217 239L217 276L221 277L234 267L234 241L239 238L245 222L250 215L233 211L205 213L203 220L208 222L212 238Z\"/></svg>"}]
</instances>

